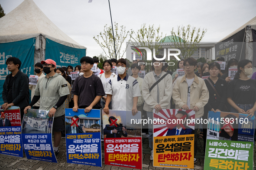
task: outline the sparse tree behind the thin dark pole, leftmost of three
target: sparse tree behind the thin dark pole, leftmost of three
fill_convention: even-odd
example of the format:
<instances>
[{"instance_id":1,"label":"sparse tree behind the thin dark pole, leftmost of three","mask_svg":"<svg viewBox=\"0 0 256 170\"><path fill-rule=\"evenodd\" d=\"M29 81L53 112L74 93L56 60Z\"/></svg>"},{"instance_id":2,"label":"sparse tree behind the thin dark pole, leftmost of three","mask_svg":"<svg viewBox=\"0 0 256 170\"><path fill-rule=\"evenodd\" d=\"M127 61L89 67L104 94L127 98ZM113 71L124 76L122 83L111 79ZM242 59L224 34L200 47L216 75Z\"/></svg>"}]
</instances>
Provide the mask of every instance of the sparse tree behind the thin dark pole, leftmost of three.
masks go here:
<instances>
[{"instance_id":1,"label":"sparse tree behind the thin dark pole, leftmost of three","mask_svg":"<svg viewBox=\"0 0 256 170\"><path fill-rule=\"evenodd\" d=\"M120 59L123 57L123 54L126 52L125 50L121 50L123 42L128 38L127 42L130 42L131 37L133 35L133 30L126 31L123 25L118 28L118 24L115 22L114 24L114 38L115 38L115 44L116 44L116 53L117 58ZM119 31L118 31L119 30ZM114 41L113 41L113 32L112 27L107 26L107 24L104 26L104 31L100 32L100 35L97 35L96 37L93 37L94 40L97 42L97 44L100 45L101 49L104 51L105 55L108 58L116 58L115 56L115 49L114 49ZM103 42L101 42L103 41ZM127 44L128 45L128 44Z\"/></svg>"}]
</instances>

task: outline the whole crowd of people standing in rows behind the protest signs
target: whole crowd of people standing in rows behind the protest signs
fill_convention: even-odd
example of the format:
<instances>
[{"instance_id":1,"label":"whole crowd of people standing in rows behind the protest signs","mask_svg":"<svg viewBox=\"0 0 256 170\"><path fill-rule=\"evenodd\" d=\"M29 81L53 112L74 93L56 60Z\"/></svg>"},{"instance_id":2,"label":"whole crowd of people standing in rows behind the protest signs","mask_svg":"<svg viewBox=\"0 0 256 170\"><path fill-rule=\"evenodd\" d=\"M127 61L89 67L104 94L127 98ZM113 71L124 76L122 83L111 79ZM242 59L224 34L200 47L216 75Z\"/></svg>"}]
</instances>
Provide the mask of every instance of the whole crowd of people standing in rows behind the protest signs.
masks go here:
<instances>
[{"instance_id":1,"label":"whole crowd of people standing in rows behind the protest signs","mask_svg":"<svg viewBox=\"0 0 256 170\"><path fill-rule=\"evenodd\" d=\"M138 76L139 71L145 70L142 60L130 63L126 59L105 60L103 69L91 68L98 64L97 58L82 57L81 65L57 68L51 59L35 64L36 75L39 76L37 85L29 85L28 76L19 70L21 62L16 57L6 60L8 70L3 85L3 109L10 106L20 107L21 119L27 109L49 110L49 117L54 116L52 131L54 132L54 151L58 154L58 145L65 134L65 108L104 110L130 110L135 115L142 112L144 119L153 120L153 109L158 113L162 109L194 110L195 119L207 119L208 111L227 111L243 113L248 116L256 115L256 80L250 79L253 65L250 60L229 60L225 71L219 63L197 63L190 57L178 61L178 69L184 69L185 76L178 76L177 71L171 72L164 64L162 55L153 59L150 72L144 79ZM221 58L219 59L221 60ZM111 72L112 66L117 66L118 75ZM228 68L237 68L233 80L228 76ZM80 72L75 80L70 73ZM44 73L46 75L44 75ZM255 74L253 74L255 77ZM202 79L202 76L209 76ZM253 78L252 77L252 78ZM29 89L31 99L29 102ZM198 136L198 129L201 129ZM206 125L195 124L194 155L197 152L197 138L204 138L206 143ZM149 147L153 149L153 125L148 124ZM177 132L179 129L177 127ZM171 134L171 132L169 132ZM153 160L153 151L151 151ZM197 162L194 157L194 162Z\"/></svg>"}]
</instances>

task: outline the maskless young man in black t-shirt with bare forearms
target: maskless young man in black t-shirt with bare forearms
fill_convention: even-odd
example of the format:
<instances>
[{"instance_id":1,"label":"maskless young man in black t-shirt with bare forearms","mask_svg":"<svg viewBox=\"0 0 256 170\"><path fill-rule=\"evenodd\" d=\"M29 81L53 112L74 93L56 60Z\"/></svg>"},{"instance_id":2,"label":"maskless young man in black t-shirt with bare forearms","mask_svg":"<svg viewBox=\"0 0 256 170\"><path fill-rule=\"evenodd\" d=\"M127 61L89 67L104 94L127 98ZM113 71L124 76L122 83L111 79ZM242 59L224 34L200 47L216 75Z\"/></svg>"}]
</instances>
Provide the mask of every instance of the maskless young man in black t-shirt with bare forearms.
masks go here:
<instances>
[{"instance_id":1,"label":"maskless young man in black t-shirt with bare forearms","mask_svg":"<svg viewBox=\"0 0 256 170\"><path fill-rule=\"evenodd\" d=\"M71 94L74 94L73 111L84 109L84 113L91 109L100 109L100 98L105 95L100 78L91 72L94 60L91 57L82 57L81 67L84 75L75 79Z\"/></svg>"}]
</instances>

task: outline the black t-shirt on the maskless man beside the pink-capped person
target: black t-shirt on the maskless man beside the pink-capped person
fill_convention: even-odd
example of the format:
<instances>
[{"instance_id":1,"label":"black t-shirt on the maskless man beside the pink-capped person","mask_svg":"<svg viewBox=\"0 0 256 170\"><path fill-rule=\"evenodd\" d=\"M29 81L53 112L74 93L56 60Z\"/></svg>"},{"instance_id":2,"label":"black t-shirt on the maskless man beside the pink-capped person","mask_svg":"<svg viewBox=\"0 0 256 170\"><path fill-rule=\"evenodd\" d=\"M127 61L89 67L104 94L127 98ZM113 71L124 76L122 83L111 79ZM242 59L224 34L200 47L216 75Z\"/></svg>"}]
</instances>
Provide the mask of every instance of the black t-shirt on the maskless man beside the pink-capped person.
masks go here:
<instances>
[{"instance_id":1,"label":"black t-shirt on the maskless man beside the pink-capped person","mask_svg":"<svg viewBox=\"0 0 256 170\"><path fill-rule=\"evenodd\" d=\"M88 78L84 76L76 78L72 86L71 94L78 95L78 107L81 107L90 106L95 97L104 96L105 91L100 78L92 74L92 76ZM100 101L93 108L101 108Z\"/></svg>"}]
</instances>

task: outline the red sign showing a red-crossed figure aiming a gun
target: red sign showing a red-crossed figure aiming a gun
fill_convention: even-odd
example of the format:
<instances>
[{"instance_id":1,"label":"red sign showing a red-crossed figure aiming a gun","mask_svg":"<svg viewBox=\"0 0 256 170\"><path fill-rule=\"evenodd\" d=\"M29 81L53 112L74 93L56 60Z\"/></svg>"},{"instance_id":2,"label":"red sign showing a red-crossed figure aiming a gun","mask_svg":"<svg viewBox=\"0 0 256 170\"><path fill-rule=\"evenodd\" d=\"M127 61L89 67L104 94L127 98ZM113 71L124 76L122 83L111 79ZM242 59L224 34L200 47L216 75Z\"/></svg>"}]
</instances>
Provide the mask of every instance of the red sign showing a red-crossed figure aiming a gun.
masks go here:
<instances>
[{"instance_id":1,"label":"red sign showing a red-crossed figure aiming a gun","mask_svg":"<svg viewBox=\"0 0 256 170\"><path fill-rule=\"evenodd\" d=\"M141 112L102 110L102 120L105 164L142 169Z\"/></svg>"}]
</instances>

